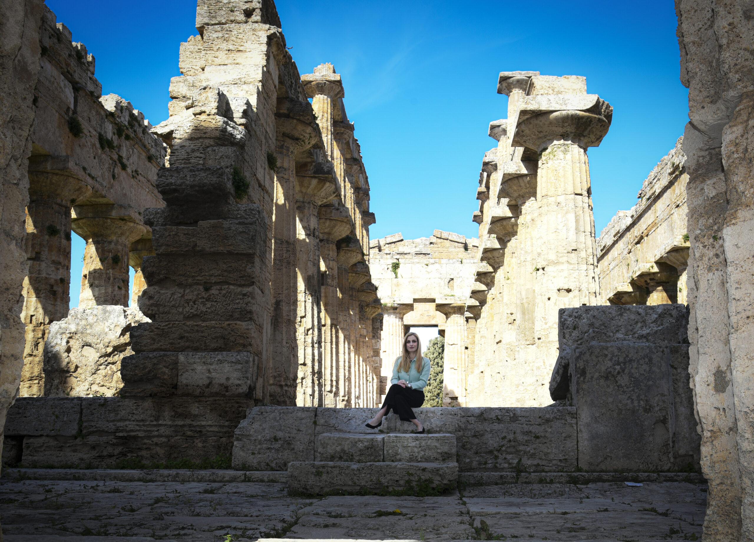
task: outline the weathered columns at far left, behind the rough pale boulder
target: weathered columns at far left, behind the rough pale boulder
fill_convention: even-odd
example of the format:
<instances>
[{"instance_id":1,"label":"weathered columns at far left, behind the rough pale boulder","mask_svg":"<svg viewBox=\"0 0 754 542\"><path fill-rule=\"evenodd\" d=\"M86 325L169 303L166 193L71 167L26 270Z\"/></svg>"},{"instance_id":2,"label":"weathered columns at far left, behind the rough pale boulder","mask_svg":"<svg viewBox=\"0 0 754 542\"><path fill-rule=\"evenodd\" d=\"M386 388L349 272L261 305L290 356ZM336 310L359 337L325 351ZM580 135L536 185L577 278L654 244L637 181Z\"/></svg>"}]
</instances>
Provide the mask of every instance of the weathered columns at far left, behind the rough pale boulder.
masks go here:
<instances>
[{"instance_id":1,"label":"weathered columns at far left, behind the rough pale boulder","mask_svg":"<svg viewBox=\"0 0 754 542\"><path fill-rule=\"evenodd\" d=\"M67 157L29 159L26 257L21 318L26 326L21 397L44 395L44 341L51 323L68 316L71 232L86 240L79 307L128 305L128 267L139 273L153 253L146 228L113 205L77 205L91 188L75 175ZM143 289L134 282L133 300Z\"/></svg>"}]
</instances>

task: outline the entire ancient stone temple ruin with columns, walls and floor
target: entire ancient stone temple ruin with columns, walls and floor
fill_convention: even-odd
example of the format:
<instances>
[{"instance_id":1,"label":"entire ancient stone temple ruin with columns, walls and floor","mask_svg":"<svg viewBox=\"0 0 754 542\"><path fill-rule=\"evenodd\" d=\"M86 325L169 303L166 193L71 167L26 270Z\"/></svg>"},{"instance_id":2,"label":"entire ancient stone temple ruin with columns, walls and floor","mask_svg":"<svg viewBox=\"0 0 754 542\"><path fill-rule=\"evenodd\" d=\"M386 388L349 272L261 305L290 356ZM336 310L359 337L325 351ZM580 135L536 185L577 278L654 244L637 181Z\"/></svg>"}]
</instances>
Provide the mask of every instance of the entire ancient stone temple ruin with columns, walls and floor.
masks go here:
<instances>
[{"instance_id":1,"label":"entire ancient stone temple ruin with columns, walls and floor","mask_svg":"<svg viewBox=\"0 0 754 542\"><path fill-rule=\"evenodd\" d=\"M154 127L41 0L0 5L9 540L754 540L746 2L676 0L690 122L599 237L609 96L520 71L478 237L415 240L370 240L335 67L299 72L271 0L197 4ZM445 338L443 407L368 430L412 326ZM107 521L100 483L131 484Z\"/></svg>"}]
</instances>

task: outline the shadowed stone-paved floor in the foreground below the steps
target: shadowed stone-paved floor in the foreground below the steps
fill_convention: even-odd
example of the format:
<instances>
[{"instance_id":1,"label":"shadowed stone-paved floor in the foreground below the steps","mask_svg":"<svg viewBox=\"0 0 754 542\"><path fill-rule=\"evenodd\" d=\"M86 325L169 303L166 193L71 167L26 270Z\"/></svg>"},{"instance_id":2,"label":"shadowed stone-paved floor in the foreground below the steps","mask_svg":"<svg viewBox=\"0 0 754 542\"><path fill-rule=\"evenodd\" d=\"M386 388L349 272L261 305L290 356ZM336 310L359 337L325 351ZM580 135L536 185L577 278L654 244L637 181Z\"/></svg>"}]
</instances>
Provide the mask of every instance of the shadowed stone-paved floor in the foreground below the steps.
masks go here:
<instances>
[{"instance_id":1,"label":"shadowed stone-paved floor in the foreground below the steps","mask_svg":"<svg viewBox=\"0 0 754 542\"><path fill-rule=\"evenodd\" d=\"M293 498L284 483L0 482L5 542L700 540L706 487L510 484L432 498Z\"/></svg>"}]
</instances>

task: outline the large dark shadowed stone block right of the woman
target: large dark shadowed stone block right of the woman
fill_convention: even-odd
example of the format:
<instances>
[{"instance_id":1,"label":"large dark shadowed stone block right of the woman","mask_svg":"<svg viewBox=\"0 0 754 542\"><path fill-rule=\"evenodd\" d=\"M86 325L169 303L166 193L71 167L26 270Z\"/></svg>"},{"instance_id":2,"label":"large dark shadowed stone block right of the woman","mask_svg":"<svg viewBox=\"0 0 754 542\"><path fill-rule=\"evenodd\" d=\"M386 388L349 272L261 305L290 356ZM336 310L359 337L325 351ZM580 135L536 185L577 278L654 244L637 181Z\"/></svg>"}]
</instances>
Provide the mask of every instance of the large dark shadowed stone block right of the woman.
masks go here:
<instances>
[{"instance_id":1,"label":"large dark shadowed stone block right of the woman","mask_svg":"<svg viewBox=\"0 0 754 542\"><path fill-rule=\"evenodd\" d=\"M576 407L587 472L697 470L683 305L561 309L553 400Z\"/></svg>"}]
</instances>

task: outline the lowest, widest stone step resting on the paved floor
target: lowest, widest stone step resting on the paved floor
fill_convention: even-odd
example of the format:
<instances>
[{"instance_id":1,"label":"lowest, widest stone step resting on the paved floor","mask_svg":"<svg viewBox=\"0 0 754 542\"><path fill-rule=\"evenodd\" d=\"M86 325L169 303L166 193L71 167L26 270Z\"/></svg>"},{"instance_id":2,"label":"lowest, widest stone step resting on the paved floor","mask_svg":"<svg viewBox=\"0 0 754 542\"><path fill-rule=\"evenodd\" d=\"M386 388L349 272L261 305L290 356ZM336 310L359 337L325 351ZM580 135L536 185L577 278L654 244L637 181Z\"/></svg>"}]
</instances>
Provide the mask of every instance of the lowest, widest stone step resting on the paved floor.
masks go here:
<instances>
[{"instance_id":1,"label":"lowest, widest stone step resting on the paved floor","mask_svg":"<svg viewBox=\"0 0 754 542\"><path fill-rule=\"evenodd\" d=\"M288 495L412 495L454 491L458 463L293 461Z\"/></svg>"}]
</instances>

